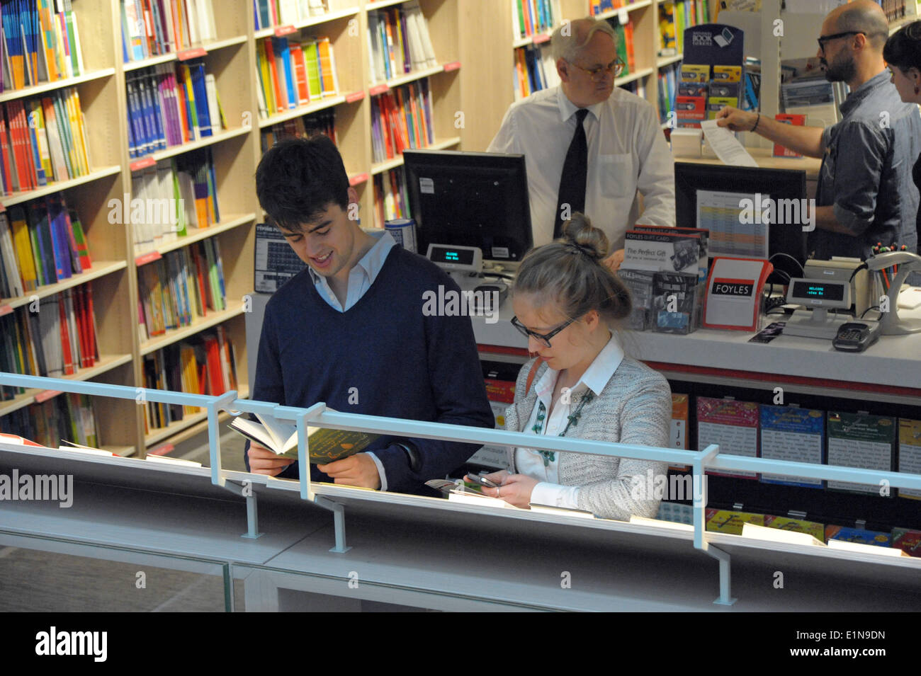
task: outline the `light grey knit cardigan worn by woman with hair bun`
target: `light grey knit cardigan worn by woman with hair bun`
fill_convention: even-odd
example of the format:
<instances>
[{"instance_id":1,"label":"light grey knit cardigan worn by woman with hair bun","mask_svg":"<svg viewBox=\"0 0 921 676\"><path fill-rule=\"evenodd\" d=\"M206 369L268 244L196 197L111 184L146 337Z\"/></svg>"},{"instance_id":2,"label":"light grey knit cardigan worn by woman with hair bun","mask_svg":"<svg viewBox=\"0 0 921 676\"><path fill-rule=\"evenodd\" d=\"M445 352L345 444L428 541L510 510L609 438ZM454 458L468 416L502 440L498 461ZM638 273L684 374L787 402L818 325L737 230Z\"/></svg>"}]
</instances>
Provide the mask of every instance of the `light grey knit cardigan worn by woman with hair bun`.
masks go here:
<instances>
[{"instance_id":1,"label":"light grey knit cardigan worn by woman with hair bun","mask_svg":"<svg viewBox=\"0 0 921 676\"><path fill-rule=\"evenodd\" d=\"M525 384L531 366L528 361L519 371L515 403L506 411L506 430L523 431L537 403L536 385L547 370L542 363L534 375L530 391ZM581 395L574 395L572 407ZM647 365L624 357L599 396L582 408L577 424L566 432L568 438L620 441L668 448L671 424L671 390L668 381ZM508 466L515 472L515 449L508 449ZM631 514L655 518L659 500L647 495L647 471L653 480L668 471L667 463L634 458L559 453L559 481L563 486L578 486L578 508L607 519L628 521ZM642 478L643 495L632 489L634 476ZM635 499L635 498L642 499Z\"/></svg>"}]
</instances>

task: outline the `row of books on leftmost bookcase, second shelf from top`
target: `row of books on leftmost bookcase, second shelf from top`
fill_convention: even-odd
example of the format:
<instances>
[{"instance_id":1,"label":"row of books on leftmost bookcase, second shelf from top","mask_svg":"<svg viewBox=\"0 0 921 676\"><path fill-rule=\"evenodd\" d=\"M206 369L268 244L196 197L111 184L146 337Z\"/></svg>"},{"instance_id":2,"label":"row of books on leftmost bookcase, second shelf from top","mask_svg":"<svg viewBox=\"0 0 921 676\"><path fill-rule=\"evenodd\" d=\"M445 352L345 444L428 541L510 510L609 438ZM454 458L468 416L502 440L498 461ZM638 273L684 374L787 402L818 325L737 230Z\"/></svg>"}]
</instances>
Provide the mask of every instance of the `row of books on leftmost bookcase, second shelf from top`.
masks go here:
<instances>
[{"instance_id":1,"label":"row of books on leftmost bookcase, second shelf from top","mask_svg":"<svg viewBox=\"0 0 921 676\"><path fill-rule=\"evenodd\" d=\"M0 153L4 195L87 175L87 127L76 88L3 104Z\"/></svg>"}]
</instances>

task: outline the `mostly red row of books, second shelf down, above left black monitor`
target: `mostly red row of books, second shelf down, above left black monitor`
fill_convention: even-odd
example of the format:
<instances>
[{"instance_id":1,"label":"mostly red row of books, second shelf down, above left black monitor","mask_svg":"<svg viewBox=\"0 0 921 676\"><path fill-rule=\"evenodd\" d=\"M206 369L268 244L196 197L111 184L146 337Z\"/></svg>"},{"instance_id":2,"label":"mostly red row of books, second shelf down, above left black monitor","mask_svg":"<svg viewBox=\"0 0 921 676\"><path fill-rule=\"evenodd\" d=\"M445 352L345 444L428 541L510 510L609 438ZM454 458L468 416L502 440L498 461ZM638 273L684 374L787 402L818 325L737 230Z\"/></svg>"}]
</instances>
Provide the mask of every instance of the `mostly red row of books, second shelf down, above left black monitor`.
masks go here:
<instances>
[{"instance_id":1,"label":"mostly red row of books, second shelf down, above left black monitor","mask_svg":"<svg viewBox=\"0 0 921 676\"><path fill-rule=\"evenodd\" d=\"M435 143L432 94L427 80L412 82L371 98L373 162L402 155L403 148L426 148Z\"/></svg>"}]
</instances>

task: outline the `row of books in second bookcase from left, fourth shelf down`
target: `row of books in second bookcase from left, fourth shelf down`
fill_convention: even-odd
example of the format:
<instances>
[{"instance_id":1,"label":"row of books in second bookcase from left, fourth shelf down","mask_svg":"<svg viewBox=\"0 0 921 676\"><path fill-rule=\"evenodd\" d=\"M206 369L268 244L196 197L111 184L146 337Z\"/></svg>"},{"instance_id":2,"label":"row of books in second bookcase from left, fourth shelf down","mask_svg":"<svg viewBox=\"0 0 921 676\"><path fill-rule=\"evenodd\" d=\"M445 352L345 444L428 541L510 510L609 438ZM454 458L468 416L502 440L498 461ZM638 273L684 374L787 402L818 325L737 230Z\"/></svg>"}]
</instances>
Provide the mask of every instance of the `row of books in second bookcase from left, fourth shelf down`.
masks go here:
<instances>
[{"instance_id":1,"label":"row of books in second bookcase from left, fourth shelf down","mask_svg":"<svg viewBox=\"0 0 921 676\"><path fill-rule=\"evenodd\" d=\"M141 338L191 326L227 308L224 266L215 237L171 251L137 270Z\"/></svg>"}]
</instances>

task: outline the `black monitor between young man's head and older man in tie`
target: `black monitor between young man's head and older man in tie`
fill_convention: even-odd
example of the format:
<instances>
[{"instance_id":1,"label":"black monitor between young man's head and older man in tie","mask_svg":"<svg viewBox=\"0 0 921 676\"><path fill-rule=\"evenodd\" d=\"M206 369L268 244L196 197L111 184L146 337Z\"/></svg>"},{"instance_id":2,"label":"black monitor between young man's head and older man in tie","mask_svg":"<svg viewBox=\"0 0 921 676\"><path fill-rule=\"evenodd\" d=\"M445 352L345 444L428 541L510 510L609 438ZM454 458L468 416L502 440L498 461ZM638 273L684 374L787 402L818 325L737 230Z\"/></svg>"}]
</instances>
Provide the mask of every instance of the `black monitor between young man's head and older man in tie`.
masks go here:
<instances>
[{"instance_id":1,"label":"black monitor between young man's head and older man in tie","mask_svg":"<svg viewBox=\"0 0 921 676\"><path fill-rule=\"evenodd\" d=\"M418 251L478 246L487 260L519 262L532 246L524 155L404 150Z\"/></svg>"}]
</instances>

